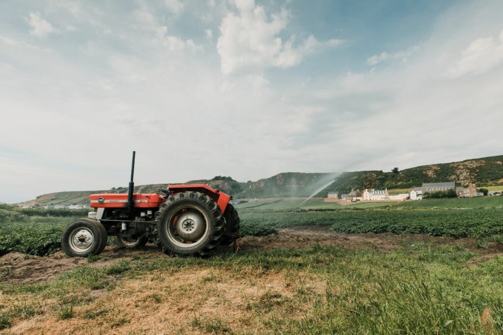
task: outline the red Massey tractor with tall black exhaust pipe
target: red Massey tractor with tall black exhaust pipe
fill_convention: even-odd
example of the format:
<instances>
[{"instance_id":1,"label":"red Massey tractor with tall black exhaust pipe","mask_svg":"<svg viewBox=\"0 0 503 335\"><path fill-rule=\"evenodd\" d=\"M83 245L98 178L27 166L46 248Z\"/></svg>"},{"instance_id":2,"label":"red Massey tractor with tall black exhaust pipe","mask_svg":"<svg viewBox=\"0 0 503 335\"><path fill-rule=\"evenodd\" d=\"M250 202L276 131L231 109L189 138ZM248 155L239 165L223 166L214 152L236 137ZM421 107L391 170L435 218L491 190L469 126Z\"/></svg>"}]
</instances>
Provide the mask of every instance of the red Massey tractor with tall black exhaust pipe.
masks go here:
<instances>
[{"instance_id":1,"label":"red Massey tractor with tall black exhaust pipe","mask_svg":"<svg viewBox=\"0 0 503 335\"><path fill-rule=\"evenodd\" d=\"M239 238L239 216L229 203L231 196L204 184L133 194L134 159L133 151L128 193L91 194L94 211L66 227L61 237L66 255L98 255L108 236L129 249L153 240L172 256L205 256Z\"/></svg>"}]
</instances>

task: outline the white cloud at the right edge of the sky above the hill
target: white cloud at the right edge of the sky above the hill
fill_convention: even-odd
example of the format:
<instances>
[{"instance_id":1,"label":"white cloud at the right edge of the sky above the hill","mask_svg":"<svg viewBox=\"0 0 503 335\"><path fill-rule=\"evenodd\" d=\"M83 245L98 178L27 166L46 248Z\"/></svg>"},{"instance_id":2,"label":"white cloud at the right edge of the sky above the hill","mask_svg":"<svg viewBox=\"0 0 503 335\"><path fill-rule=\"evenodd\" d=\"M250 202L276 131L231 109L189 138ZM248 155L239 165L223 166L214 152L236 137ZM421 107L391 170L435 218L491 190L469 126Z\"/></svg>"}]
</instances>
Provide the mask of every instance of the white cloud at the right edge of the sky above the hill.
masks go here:
<instances>
[{"instance_id":1,"label":"white cloud at the right edge of the sky above the hill","mask_svg":"<svg viewBox=\"0 0 503 335\"><path fill-rule=\"evenodd\" d=\"M464 74L481 74L503 61L503 30L499 38L478 38L461 53L461 59L447 70L447 76L456 78Z\"/></svg>"}]
</instances>

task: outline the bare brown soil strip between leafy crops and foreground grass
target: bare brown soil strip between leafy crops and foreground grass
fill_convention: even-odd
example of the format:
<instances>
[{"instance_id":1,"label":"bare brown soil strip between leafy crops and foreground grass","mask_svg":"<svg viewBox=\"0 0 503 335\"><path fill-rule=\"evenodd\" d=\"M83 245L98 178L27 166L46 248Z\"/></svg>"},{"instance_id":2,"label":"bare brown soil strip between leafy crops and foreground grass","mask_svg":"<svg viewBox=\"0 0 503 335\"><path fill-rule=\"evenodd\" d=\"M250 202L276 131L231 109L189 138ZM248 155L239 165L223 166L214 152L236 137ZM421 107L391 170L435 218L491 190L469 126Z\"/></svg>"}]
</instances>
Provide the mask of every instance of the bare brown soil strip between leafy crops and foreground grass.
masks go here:
<instances>
[{"instance_id":1,"label":"bare brown soil strip between leafy crops and foreground grass","mask_svg":"<svg viewBox=\"0 0 503 335\"><path fill-rule=\"evenodd\" d=\"M240 241L238 252L260 252L276 248L302 249L312 247L316 244L320 246L341 246L352 250L371 249L375 251L390 251L410 246L414 243L427 243L432 246L460 245L469 250L476 250L481 256L472 260L472 264L488 260L503 253L503 246L499 244L490 243L488 248L480 249L477 247L477 241L469 238L455 239L451 237L409 234L344 234L330 232L327 227L296 227L280 229L279 234L265 237L246 237ZM129 261L135 255L142 255L144 257L145 252L147 254L151 253L152 257L161 256L160 251L154 246L146 246L142 250L107 247L101 254L102 259L92 263L91 266L111 265L122 260ZM222 252L233 252L233 248L223 248ZM87 259L68 258L63 252L58 252L48 257L9 253L0 257L0 278L11 283L48 282L53 277L83 264L87 264Z\"/></svg>"}]
</instances>

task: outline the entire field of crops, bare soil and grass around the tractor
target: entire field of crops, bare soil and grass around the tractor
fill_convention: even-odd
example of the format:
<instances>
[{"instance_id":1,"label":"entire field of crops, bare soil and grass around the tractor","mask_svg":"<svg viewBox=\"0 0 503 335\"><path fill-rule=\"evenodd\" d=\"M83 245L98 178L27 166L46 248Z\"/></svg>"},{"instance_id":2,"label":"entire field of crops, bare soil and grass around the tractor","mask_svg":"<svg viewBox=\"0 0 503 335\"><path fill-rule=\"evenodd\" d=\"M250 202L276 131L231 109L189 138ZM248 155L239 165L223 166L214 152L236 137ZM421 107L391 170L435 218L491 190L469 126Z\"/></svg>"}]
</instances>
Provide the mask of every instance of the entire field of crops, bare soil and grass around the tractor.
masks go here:
<instances>
[{"instance_id":1,"label":"entire field of crops, bare soil and grass around the tractor","mask_svg":"<svg viewBox=\"0 0 503 335\"><path fill-rule=\"evenodd\" d=\"M243 203L240 250L206 259L69 259L85 211L4 206L0 334L501 334L502 200Z\"/></svg>"}]
</instances>

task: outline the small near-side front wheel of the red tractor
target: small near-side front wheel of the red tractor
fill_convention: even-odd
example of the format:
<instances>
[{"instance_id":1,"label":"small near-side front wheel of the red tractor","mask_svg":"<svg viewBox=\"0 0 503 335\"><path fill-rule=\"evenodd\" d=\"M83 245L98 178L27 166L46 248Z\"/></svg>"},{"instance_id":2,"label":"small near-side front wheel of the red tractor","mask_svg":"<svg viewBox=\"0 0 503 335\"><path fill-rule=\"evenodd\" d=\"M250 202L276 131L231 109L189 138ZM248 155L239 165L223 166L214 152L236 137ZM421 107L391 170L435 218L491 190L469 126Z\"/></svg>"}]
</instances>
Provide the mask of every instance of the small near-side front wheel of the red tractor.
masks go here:
<instances>
[{"instance_id":1,"label":"small near-side front wheel of the red tractor","mask_svg":"<svg viewBox=\"0 0 503 335\"><path fill-rule=\"evenodd\" d=\"M69 257L99 255L107 245L107 231L97 220L81 218L71 222L61 236L61 249Z\"/></svg>"}]
</instances>

